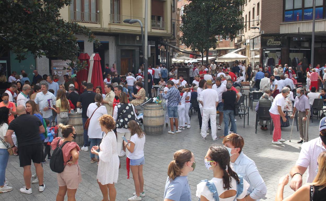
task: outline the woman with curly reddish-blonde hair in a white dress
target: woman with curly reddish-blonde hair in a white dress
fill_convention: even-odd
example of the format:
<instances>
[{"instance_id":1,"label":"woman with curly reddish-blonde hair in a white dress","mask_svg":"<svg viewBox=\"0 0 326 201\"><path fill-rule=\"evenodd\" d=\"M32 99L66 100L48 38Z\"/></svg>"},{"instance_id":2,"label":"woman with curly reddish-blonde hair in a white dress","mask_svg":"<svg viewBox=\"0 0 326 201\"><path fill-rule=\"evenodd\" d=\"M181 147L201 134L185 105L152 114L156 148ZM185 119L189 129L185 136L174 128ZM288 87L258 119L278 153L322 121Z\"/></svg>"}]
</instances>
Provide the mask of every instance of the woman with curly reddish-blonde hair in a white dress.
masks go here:
<instances>
[{"instance_id":1,"label":"woman with curly reddish-blonde hair in a white dress","mask_svg":"<svg viewBox=\"0 0 326 201\"><path fill-rule=\"evenodd\" d=\"M97 183L102 192L102 201L115 201L117 191L114 183L118 181L119 157L117 153L117 138L112 131L115 127L115 121L112 116L105 114L98 120L104 136L100 146L94 146L91 152L99 156L97 168ZM100 150L99 152L96 150Z\"/></svg>"}]
</instances>

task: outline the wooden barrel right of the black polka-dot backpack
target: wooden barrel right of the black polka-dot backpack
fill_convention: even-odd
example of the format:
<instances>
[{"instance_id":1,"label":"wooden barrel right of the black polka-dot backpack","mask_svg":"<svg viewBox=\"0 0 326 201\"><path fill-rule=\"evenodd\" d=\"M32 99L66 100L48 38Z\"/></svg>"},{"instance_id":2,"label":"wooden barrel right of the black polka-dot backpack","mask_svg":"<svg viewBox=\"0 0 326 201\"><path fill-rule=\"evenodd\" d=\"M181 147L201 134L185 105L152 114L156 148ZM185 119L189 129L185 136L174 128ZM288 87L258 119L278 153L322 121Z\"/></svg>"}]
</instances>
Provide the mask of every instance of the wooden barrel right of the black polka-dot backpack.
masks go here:
<instances>
[{"instance_id":1,"label":"wooden barrel right of the black polka-dot backpack","mask_svg":"<svg viewBox=\"0 0 326 201\"><path fill-rule=\"evenodd\" d=\"M145 105L143 115L145 134L149 136L162 135L165 115L163 107L157 104Z\"/></svg>"}]
</instances>

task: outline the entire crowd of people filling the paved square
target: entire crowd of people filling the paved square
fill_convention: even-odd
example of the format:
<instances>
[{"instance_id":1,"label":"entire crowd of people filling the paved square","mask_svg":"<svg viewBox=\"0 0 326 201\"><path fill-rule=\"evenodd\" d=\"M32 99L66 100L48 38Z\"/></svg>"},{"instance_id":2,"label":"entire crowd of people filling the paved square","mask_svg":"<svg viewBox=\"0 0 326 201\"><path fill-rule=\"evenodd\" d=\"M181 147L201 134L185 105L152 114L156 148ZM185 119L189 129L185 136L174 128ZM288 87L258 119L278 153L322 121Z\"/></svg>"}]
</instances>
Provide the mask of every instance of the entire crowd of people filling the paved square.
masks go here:
<instances>
[{"instance_id":1,"label":"entire crowd of people filling the paved square","mask_svg":"<svg viewBox=\"0 0 326 201\"><path fill-rule=\"evenodd\" d=\"M208 130L211 130L212 140L217 140L217 131L222 130L224 121L224 131L219 136L223 139L223 146L212 145L204 158L206 168L213 171L213 179L201 181L197 185L196 196L200 200L210 201L218 198L230 201L266 199L266 185L254 161L244 154L244 139L237 134L235 123L236 108L244 98L241 83L246 80L251 80L257 90L264 92L257 103L256 111L260 107L269 108L274 122L272 143L282 144L285 141L281 137L280 129L281 121L287 121L284 108L292 112L291 118L298 118L298 143L307 142L303 144L299 159L290 171L290 187L296 192L286 199L308 200L311 196L316 199L326 193L326 117L320 121L320 137L308 142L307 133L311 100L326 100L325 89L320 94L316 93L316 69L311 69L311 73L307 72L307 79L308 75L310 78L307 91L301 88L294 70L287 65L283 72L282 66L277 66L271 73L268 68L253 69L250 64L245 67L241 62L232 68L228 64L217 66L214 62L211 65L188 63L189 77L186 77L189 78L189 83L184 75L178 73L178 67L185 67L185 64L173 65L170 70L165 65L156 65L155 68L149 66L149 79L143 80L143 66L140 66L136 75L119 75L115 65L111 68L106 65L103 72L104 90L101 86L94 87L92 83L78 80L78 72L73 72L71 76L65 75L65 82L60 83L56 76L41 76L34 71L33 82L30 83L23 71L22 78L13 71L0 103L0 193L13 190L5 178L10 154L7 150L18 155L20 166L23 167L25 186L20 192L32 194L31 183L38 183L39 192L45 190L42 164L47 159L51 166L54 161L51 160L51 149L60 147L64 169L57 173L57 201L64 200L66 194L68 200L75 200L76 191L82 181L80 151L89 151L90 163L98 165L97 183L103 201L116 199L114 184L118 181L121 166L119 157L124 156L127 159L127 176L129 178L131 169L135 185L135 193L128 200L142 200L145 196L145 133L136 122L138 112L135 107L151 98L152 94L158 93L153 85L160 85L162 90L158 90L159 95L166 100L165 126L169 128L170 123L169 134L177 134L191 127L191 107L198 111L203 140L209 135ZM320 77L316 78L323 82ZM149 83L148 94L143 88L144 81ZM296 89L296 94L291 91L293 89ZM77 108L82 110L82 146L74 142L77 137L76 129L68 124L69 113L79 110ZM264 120L259 120L262 130L267 130L268 124L268 120L265 124ZM32 162L35 174L31 171ZM191 151L183 149L174 153L167 170L165 201L191 200L187 175L195 167L195 156ZM306 170L307 182L310 184L302 186L302 175ZM32 178L34 180L31 182ZM280 179L275 200L283 200L284 186L288 181L288 176ZM313 194L309 193L311 189Z\"/></svg>"}]
</instances>

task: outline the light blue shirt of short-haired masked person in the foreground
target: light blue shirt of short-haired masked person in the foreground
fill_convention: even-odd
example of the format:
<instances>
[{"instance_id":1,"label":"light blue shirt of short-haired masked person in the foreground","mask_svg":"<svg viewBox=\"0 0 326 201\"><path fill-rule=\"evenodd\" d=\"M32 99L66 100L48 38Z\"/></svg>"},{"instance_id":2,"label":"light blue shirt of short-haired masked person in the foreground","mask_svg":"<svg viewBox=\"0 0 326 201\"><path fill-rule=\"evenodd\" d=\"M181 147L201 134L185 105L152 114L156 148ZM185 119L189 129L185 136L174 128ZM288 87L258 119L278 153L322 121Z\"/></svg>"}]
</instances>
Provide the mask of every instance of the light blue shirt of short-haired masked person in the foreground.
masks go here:
<instances>
[{"instance_id":1,"label":"light blue shirt of short-haired masked person in the foreground","mask_svg":"<svg viewBox=\"0 0 326 201\"><path fill-rule=\"evenodd\" d=\"M241 151L237 160L231 163L231 165L233 166L233 170L250 184L247 192L252 199L266 199L265 195L267 194L267 188L253 160Z\"/></svg>"}]
</instances>

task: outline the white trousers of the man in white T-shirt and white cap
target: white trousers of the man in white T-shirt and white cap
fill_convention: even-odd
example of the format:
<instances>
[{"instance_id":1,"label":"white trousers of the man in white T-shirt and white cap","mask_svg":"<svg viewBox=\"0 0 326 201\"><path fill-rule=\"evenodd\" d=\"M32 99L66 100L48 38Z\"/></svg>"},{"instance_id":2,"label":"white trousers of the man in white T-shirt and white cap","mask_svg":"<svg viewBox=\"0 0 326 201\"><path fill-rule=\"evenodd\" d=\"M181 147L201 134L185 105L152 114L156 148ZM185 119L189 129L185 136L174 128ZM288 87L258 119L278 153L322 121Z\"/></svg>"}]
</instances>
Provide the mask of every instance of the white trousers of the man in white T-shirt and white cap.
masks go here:
<instances>
[{"instance_id":1,"label":"white trousers of the man in white T-shirt and white cap","mask_svg":"<svg viewBox=\"0 0 326 201\"><path fill-rule=\"evenodd\" d=\"M208 120L211 119L211 131L212 138L216 138L216 109L203 109L202 110L202 124L201 124L201 136L206 137L206 131L208 128Z\"/></svg>"}]
</instances>

